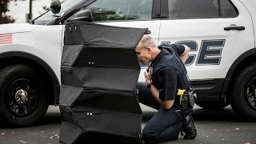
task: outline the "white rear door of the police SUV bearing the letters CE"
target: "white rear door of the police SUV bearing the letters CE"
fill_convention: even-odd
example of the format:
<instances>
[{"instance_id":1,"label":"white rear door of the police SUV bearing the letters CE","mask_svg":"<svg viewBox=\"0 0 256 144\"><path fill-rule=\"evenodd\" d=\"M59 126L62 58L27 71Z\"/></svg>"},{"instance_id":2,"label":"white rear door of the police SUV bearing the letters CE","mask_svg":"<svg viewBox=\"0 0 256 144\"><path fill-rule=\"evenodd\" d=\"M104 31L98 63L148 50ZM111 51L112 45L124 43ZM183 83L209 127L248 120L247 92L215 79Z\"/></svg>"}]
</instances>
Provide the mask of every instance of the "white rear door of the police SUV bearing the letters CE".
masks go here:
<instances>
[{"instance_id":1,"label":"white rear door of the police SUV bearing the letters CE","mask_svg":"<svg viewBox=\"0 0 256 144\"><path fill-rule=\"evenodd\" d=\"M254 29L251 17L246 7L242 6L239 1L234 1L237 6L239 15L237 18L199 18L199 19L174 19L162 20L159 34L159 42L184 42L194 41L198 44L196 50L191 50L190 55L195 54L194 62L186 66L189 71L190 79L212 79L226 78L226 74L233 62L246 50L254 47ZM228 26L245 26L246 30L224 30ZM207 54L200 58L200 62L206 61L205 64L198 62L198 56L201 52L202 41L224 40L224 46L209 46ZM246 45L245 45L246 44ZM241 49L235 49L240 47ZM219 54L210 55L211 51L219 51ZM202 53L201 53L202 54ZM216 62L207 63L206 58L214 58ZM219 62L217 60L219 59Z\"/></svg>"}]
</instances>

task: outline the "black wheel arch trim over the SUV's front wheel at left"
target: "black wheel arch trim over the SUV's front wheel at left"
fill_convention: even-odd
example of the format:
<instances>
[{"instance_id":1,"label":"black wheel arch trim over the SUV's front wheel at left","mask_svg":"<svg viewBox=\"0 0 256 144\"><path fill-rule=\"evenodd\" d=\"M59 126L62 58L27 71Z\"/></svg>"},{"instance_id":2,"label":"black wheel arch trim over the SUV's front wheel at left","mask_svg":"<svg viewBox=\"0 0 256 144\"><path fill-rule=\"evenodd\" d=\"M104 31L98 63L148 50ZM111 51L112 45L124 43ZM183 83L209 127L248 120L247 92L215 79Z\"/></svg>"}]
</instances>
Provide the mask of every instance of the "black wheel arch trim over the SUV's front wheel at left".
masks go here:
<instances>
[{"instance_id":1,"label":"black wheel arch trim over the SUV's front wheel at left","mask_svg":"<svg viewBox=\"0 0 256 144\"><path fill-rule=\"evenodd\" d=\"M20 51L10 51L0 54L0 69L5 66L14 64L26 64L39 70L46 82L47 93L49 94L50 105L58 105L58 95L60 91L60 83L54 70L42 58L38 58L34 54ZM50 83L50 85L49 85Z\"/></svg>"}]
</instances>

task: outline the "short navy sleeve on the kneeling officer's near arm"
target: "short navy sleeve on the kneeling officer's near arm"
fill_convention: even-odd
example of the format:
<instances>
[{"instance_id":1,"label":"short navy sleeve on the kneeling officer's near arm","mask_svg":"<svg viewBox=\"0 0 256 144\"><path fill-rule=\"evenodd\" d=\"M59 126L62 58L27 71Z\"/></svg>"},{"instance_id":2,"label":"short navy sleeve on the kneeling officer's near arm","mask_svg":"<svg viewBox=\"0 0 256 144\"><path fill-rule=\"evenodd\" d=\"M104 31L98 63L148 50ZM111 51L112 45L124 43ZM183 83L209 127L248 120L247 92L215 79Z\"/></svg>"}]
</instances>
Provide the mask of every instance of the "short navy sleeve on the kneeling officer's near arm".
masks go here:
<instances>
[{"instance_id":1,"label":"short navy sleeve on the kneeling officer's near arm","mask_svg":"<svg viewBox=\"0 0 256 144\"><path fill-rule=\"evenodd\" d=\"M178 71L174 68L163 68L158 72L159 98L162 100L174 100L177 93L179 79Z\"/></svg>"}]
</instances>

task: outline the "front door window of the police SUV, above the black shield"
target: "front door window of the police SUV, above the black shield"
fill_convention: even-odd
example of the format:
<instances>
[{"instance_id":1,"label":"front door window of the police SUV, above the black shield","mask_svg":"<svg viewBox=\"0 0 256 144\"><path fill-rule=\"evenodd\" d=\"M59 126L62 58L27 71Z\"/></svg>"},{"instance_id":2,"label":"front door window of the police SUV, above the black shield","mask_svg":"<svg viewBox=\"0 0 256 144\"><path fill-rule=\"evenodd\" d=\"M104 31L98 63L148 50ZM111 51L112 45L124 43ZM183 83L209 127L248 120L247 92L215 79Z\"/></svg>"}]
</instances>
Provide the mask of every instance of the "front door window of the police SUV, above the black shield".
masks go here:
<instances>
[{"instance_id":1,"label":"front door window of the police SUV, above the black shield","mask_svg":"<svg viewBox=\"0 0 256 144\"><path fill-rule=\"evenodd\" d=\"M94 22L117 20L151 19L153 0L101 0L86 9L90 9Z\"/></svg>"}]
</instances>

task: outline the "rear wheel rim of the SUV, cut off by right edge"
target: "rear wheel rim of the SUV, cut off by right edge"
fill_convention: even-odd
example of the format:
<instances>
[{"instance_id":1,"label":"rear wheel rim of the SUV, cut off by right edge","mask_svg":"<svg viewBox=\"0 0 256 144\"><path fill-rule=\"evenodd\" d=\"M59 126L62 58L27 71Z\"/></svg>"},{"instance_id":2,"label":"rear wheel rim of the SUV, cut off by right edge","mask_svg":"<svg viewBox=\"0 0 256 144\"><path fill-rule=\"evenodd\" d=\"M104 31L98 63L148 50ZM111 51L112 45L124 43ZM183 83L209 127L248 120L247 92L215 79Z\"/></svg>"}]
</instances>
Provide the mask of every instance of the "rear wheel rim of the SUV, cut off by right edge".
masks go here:
<instances>
[{"instance_id":1,"label":"rear wheel rim of the SUV, cut off by right edge","mask_svg":"<svg viewBox=\"0 0 256 144\"><path fill-rule=\"evenodd\" d=\"M256 77L252 78L246 86L246 103L256 110Z\"/></svg>"}]
</instances>

